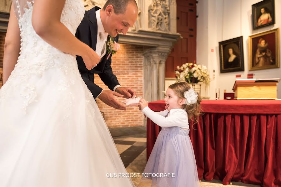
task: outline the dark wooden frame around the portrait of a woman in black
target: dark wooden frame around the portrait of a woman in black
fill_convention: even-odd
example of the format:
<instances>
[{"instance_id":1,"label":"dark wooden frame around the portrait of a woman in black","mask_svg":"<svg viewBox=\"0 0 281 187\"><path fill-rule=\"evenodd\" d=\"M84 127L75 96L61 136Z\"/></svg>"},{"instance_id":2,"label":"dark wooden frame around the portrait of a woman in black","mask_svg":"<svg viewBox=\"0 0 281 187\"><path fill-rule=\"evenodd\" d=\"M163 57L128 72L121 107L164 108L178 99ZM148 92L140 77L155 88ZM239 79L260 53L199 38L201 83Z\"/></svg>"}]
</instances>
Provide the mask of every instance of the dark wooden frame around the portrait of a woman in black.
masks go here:
<instances>
[{"instance_id":1,"label":"dark wooden frame around the portrait of a woman in black","mask_svg":"<svg viewBox=\"0 0 281 187\"><path fill-rule=\"evenodd\" d=\"M239 66L233 68L225 68L224 67L224 46L229 46L231 44L235 44L238 42L238 52L239 54ZM220 41L218 42L219 48L219 61L220 61L220 73L228 73L235 71L244 71L244 53L243 53L243 36L239 36L237 38ZM230 48L230 47L229 47ZM229 49L228 48L228 49Z\"/></svg>"}]
</instances>

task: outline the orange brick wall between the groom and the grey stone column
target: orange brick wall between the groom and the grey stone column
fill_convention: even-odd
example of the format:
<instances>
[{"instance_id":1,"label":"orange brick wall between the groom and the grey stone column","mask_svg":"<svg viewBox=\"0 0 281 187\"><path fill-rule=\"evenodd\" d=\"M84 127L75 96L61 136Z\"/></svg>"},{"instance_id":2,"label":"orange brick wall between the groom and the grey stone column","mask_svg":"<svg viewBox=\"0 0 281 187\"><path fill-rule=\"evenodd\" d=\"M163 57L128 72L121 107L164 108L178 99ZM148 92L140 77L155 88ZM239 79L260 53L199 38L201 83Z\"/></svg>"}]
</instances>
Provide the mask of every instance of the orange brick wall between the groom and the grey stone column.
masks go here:
<instances>
[{"instance_id":1,"label":"orange brick wall between the groom and the grey stone column","mask_svg":"<svg viewBox=\"0 0 281 187\"><path fill-rule=\"evenodd\" d=\"M121 44L121 49L112 57L113 74L121 86L131 87L138 96L143 96L143 46ZM95 74L95 83L104 89L108 87ZM118 98L123 101L123 98ZM104 118L108 127L130 127L143 125L143 113L138 111L138 107L127 107L126 111L117 110L104 104L101 100L96 100L98 107L104 112Z\"/></svg>"}]
</instances>

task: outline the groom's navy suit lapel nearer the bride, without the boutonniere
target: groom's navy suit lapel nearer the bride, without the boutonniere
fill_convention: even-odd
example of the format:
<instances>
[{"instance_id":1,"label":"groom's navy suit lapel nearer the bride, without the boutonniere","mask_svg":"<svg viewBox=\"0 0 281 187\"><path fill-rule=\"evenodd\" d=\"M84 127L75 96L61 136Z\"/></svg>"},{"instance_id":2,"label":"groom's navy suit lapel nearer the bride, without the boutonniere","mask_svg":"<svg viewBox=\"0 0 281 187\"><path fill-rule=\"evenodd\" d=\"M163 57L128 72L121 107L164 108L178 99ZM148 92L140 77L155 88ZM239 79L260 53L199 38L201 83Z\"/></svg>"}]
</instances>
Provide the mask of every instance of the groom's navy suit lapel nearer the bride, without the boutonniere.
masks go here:
<instances>
[{"instance_id":1,"label":"groom's navy suit lapel nearer the bride, without the boutonniere","mask_svg":"<svg viewBox=\"0 0 281 187\"><path fill-rule=\"evenodd\" d=\"M98 35L98 23L97 23L97 17L96 17L96 11L100 9L99 7L93 7L91 10L89 10L89 27L91 31L91 38L92 38L92 49L96 51L97 46L97 35Z\"/></svg>"}]
</instances>

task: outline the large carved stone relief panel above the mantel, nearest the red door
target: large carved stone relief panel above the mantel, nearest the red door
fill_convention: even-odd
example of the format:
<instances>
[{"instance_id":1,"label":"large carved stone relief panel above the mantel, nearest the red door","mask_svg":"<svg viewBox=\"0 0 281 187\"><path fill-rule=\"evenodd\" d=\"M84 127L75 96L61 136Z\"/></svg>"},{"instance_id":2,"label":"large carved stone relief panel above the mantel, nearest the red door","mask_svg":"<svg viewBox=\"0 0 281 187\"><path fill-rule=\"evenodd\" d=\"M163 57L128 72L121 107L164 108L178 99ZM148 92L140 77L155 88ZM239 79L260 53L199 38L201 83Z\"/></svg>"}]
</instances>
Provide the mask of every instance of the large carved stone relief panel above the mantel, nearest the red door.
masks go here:
<instances>
[{"instance_id":1,"label":"large carved stone relief panel above the mantel, nearest the red door","mask_svg":"<svg viewBox=\"0 0 281 187\"><path fill-rule=\"evenodd\" d=\"M151 30L169 32L170 7L168 0L153 0L148 7L148 12Z\"/></svg>"}]
</instances>

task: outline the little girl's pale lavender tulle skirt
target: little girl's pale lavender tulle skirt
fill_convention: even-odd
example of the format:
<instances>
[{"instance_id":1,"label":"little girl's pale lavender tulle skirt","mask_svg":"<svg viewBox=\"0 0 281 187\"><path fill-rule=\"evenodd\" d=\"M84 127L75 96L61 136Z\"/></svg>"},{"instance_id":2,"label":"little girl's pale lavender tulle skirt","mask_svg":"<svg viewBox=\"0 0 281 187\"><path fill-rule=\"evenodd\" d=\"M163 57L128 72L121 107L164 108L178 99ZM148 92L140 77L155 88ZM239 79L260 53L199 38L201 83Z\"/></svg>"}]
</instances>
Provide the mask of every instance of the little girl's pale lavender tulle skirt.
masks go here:
<instances>
[{"instance_id":1,"label":"little girl's pale lavender tulle skirt","mask_svg":"<svg viewBox=\"0 0 281 187\"><path fill-rule=\"evenodd\" d=\"M198 173L189 130L162 127L142 181L152 180L153 187L198 187Z\"/></svg>"}]
</instances>

